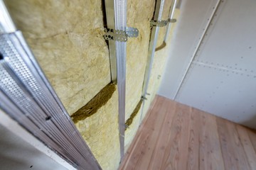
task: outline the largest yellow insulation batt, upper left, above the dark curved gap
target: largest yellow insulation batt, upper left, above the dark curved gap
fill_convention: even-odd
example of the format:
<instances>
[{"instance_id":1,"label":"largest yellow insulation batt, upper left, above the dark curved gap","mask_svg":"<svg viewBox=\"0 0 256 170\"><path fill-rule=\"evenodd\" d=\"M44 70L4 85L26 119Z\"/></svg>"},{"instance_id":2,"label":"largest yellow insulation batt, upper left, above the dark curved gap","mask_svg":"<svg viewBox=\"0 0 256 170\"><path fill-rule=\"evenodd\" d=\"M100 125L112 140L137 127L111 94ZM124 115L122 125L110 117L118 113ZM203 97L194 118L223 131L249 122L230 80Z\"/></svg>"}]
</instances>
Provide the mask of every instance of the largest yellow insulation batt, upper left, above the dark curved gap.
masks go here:
<instances>
[{"instance_id":1,"label":"largest yellow insulation batt, upper left, above the dark curved gap","mask_svg":"<svg viewBox=\"0 0 256 170\"><path fill-rule=\"evenodd\" d=\"M101 0L5 2L70 115L110 83Z\"/></svg>"}]
</instances>

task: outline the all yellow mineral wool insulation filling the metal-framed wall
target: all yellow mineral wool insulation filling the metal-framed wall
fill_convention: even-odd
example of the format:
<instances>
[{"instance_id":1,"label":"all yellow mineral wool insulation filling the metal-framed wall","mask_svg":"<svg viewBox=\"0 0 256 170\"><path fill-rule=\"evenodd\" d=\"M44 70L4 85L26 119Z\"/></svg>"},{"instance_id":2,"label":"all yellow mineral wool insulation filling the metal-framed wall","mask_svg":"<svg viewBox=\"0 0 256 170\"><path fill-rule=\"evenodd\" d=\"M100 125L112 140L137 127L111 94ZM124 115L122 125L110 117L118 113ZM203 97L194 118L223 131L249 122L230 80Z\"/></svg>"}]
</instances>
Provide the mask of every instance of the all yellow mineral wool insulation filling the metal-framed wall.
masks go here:
<instances>
[{"instance_id":1,"label":"all yellow mineral wool insulation filling the metal-framed wall","mask_svg":"<svg viewBox=\"0 0 256 170\"><path fill-rule=\"evenodd\" d=\"M105 15L102 1L5 2L68 113L71 116L87 113L73 120L102 169L117 169L120 160L118 94L117 87L110 84L109 50L102 38ZM139 103L151 33L149 22L154 15L155 1L130 0L127 3L127 26L138 28L139 36L127 41L126 120L134 115L134 109L137 114L125 131L125 149L139 127L142 110ZM163 19L168 18L170 4L171 1L166 1ZM161 28L159 39L163 40L164 31ZM157 45L161 45L162 40ZM171 36L168 42L170 40ZM156 52L149 84L151 96L144 113L158 89L159 79L156 78L163 70L168 51ZM106 92L107 88L111 91ZM104 89L105 94L102 94ZM101 97L106 100L100 100Z\"/></svg>"}]
</instances>

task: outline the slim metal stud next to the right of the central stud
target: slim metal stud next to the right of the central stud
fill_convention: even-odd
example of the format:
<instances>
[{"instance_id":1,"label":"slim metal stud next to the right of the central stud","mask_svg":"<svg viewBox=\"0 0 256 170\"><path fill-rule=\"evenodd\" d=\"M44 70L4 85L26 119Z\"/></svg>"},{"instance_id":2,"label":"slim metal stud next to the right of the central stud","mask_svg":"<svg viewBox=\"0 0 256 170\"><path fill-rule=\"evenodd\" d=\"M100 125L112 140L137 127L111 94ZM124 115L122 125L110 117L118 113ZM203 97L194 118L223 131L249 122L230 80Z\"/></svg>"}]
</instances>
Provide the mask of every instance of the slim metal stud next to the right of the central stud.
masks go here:
<instances>
[{"instance_id":1,"label":"slim metal stud next to the right of the central stud","mask_svg":"<svg viewBox=\"0 0 256 170\"><path fill-rule=\"evenodd\" d=\"M163 9L164 9L164 0L156 0L154 21L161 21ZM155 53L155 49L156 49L156 42L157 42L158 35L159 35L159 26L152 27L151 37L150 37L150 42L149 42L149 53L148 53L149 55L147 57L146 71L144 74L144 82L143 82L143 86L142 86L143 103L142 103L142 113L140 115L140 123L142 123L142 115L143 115L143 111L144 111L146 95L149 95L146 91L149 86L149 78L150 78L151 68L152 68L152 64L153 64L153 60L154 60L154 53Z\"/></svg>"}]
</instances>

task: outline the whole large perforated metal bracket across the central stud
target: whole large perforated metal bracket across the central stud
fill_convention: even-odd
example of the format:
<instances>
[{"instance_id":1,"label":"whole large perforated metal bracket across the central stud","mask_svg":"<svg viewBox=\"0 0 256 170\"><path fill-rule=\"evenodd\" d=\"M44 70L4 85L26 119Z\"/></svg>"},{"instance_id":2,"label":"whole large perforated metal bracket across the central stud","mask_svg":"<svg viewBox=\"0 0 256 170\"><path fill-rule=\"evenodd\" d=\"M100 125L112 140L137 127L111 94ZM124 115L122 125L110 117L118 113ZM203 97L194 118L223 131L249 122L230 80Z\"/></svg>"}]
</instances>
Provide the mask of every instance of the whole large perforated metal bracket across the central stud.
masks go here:
<instances>
[{"instance_id":1,"label":"whole large perforated metal bracket across the central stud","mask_svg":"<svg viewBox=\"0 0 256 170\"><path fill-rule=\"evenodd\" d=\"M127 38L137 38L139 35L139 30L137 28L127 27L124 30L114 30L110 28L105 28L105 35L103 38L105 40L117 40L120 42L127 42Z\"/></svg>"}]
</instances>

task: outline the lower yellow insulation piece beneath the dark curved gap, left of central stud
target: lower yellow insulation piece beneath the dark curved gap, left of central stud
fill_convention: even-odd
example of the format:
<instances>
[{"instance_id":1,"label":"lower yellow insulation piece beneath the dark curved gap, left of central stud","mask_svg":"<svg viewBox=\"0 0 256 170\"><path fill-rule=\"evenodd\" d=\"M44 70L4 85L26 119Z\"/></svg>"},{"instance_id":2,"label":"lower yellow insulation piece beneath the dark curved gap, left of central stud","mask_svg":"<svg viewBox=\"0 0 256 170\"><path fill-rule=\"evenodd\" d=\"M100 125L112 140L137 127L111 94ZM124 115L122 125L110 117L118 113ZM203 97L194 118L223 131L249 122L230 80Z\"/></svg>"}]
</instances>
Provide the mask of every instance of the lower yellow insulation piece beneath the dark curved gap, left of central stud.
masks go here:
<instances>
[{"instance_id":1,"label":"lower yellow insulation piece beneath the dark curved gap, left of central stud","mask_svg":"<svg viewBox=\"0 0 256 170\"><path fill-rule=\"evenodd\" d=\"M97 113L75 124L102 169L113 170L119 166L120 145L117 100L116 90L112 98Z\"/></svg>"}]
</instances>

